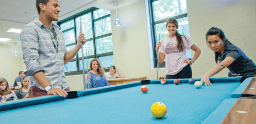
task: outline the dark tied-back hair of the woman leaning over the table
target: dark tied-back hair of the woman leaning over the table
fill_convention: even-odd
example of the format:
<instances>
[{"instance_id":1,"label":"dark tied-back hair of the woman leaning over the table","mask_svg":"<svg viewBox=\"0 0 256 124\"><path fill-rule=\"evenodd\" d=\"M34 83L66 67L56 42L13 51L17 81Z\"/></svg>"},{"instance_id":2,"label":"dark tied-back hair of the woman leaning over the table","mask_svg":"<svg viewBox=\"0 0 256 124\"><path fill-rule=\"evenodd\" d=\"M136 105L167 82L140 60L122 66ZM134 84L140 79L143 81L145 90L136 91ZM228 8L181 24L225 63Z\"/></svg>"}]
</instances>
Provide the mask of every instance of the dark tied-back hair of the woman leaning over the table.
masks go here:
<instances>
[{"instance_id":1,"label":"dark tied-back hair of the woman leaning over the table","mask_svg":"<svg viewBox=\"0 0 256 124\"><path fill-rule=\"evenodd\" d=\"M224 41L224 43L228 42L229 44L232 44L231 42L229 42L227 39L226 39L226 36L224 34L224 32L219 29L219 28L216 28L216 27L212 27L210 28L207 33L206 33L206 36L205 36L205 39L206 39L206 43L207 43L207 38L208 36L210 35L218 35L222 41ZM218 64L218 56L219 56L219 52L214 52L215 54L215 62Z\"/></svg>"}]
</instances>

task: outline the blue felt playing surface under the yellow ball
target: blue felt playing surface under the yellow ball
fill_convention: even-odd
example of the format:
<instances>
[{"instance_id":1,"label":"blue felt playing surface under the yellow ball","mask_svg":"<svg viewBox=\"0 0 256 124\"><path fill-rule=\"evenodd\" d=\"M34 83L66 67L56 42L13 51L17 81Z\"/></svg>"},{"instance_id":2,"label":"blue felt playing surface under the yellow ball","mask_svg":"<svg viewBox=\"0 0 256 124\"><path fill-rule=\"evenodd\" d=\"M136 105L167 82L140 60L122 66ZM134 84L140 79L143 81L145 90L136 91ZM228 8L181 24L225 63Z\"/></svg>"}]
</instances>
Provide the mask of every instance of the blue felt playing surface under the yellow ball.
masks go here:
<instances>
[{"instance_id":1,"label":"blue felt playing surface under the yellow ball","mask_svg":"<svg viewBox=\"0 0 256 124\"><path fill-rule=\"evenodd\" d=\"M8 123L201 123L241 83L214 83L197 89L191 84L150 84L96 93L70 100L0 112ZM151 106L162 102L167 113L162 119L151 114Z\"/></svg>"}]
</instances>

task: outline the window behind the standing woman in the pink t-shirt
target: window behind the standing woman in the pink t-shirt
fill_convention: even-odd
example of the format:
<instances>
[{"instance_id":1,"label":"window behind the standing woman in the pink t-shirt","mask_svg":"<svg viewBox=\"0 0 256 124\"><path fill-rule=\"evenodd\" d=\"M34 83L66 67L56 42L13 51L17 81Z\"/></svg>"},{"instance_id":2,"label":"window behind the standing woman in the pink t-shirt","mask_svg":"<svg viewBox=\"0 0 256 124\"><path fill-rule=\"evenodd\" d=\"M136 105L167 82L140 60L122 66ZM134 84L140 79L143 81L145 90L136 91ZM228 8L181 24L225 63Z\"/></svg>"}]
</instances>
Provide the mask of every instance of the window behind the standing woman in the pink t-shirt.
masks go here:
<instances>
[{"instance_id":1,"label":"window behind the standing woman in the pink t-shirt","mask_svg":"<svg viewBox=\"0 0 256 124\"><path fill-rule=\"evenodd\" d=\"M154 56L154 66L157 67L157 53L155 52L156 43L168 35L165 28L166 20L174 17L179 22L177 32L181 35L189 37L188 18L186 0L150 0L150 16L152 31L152 46ZM186 49L186 56L191 59L190 49ZM165 61L159 63L159 67L165 67Z\"/></svg>"}]
</instances>

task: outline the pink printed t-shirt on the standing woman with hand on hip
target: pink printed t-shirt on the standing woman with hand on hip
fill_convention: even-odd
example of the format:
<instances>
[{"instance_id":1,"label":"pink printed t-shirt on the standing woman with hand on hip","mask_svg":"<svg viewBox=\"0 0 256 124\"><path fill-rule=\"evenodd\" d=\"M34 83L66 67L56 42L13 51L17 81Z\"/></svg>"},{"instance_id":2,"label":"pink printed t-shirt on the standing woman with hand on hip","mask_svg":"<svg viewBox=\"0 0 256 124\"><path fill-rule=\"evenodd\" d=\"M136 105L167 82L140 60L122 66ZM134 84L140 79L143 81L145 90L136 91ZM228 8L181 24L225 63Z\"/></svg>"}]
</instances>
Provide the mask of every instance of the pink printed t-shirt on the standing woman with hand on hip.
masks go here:
<instances>
[{"instance_id":1,"label":"pink printed t-shirt on the standing woman with hand on hip","mask_svg":"<svg viewBox=\"0 0 256 124\"><path fill-rule=\"evenodd\" d=\"M166 75L176 75L187 65L184 62L187 59L186 49L189 49L194 43L187 37L187 40L183 36L181 38L185 46L183 52L179 52L177 48L176 37L169 38L166 36L160 41L159 52L165 55Z\"/></svg>"}]
</instances>

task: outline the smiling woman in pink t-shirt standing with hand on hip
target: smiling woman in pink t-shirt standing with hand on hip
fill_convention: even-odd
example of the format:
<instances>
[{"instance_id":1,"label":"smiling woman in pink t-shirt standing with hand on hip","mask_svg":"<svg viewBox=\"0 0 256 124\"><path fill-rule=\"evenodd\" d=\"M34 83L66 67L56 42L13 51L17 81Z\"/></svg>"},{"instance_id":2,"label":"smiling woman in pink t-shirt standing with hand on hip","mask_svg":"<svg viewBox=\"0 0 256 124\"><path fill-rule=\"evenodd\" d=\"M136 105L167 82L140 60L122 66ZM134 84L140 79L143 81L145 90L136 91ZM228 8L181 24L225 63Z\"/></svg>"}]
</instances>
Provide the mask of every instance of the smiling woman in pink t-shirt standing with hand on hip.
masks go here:
<instances>
[{"instance_id":1,"label":"smiling woman in pink t-shirt standing with hand on hip","mask_svg":"<svg viewBox=\"0 0 256 124\"><path fill-rule=\"evenodd\" d=\"M156 44L157 53L159 49L159 62L163 63L165 59L165 79L192 78L192 70L189 64L194 63L201 54L199 47L188 37L177 32L178 27L178 21L175 18L169 18L166 22L168 36ZM196 52L192 60L187 59L186 56L186 49L189 48Z\"/></svg>"}]
</instances>

